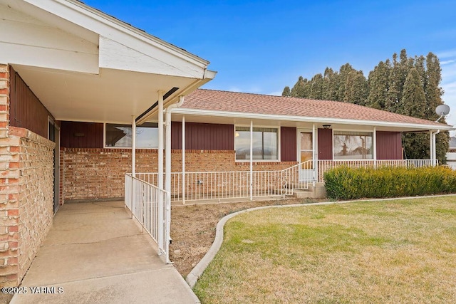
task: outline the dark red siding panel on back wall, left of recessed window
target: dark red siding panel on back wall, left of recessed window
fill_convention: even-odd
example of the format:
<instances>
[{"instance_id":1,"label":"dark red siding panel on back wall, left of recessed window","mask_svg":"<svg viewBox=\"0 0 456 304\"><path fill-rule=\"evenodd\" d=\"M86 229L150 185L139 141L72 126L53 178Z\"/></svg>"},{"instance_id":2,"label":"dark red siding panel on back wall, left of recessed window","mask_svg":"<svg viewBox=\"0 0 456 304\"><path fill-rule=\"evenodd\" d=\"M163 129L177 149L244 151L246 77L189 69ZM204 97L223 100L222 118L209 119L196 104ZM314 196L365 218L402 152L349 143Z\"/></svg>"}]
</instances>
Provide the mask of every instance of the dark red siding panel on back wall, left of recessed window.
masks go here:
<instances>
[{"instance_id":1,"label":"dark red siding panel on back wall, left of recessed window","mask_svg":"<svg viewBox=\"0 0 456 304\"><path fill-rule=\"evenodd\" d=\"M103 123L61 122L61 147L103 148Z\"/></svg>"}]
</instances>

